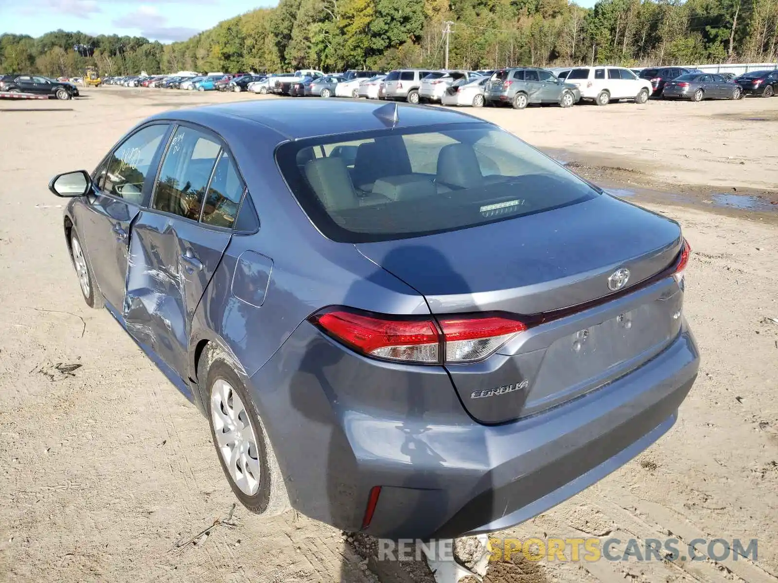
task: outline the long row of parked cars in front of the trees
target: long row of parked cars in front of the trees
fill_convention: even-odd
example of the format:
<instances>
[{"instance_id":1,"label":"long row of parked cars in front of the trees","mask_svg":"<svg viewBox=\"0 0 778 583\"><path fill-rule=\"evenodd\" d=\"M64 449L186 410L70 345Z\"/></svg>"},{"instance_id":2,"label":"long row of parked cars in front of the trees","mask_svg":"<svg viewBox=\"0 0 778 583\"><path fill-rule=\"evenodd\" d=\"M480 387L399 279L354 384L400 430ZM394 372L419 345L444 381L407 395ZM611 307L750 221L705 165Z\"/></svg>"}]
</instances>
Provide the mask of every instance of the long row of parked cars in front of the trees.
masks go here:
<instances>
[{"instance_id":1,"label":"long row of parked cars in front of the trees","mask_svg":"<svg viewBox=\"0 0 778 583\"><path fill-rule=\"evenodd\" d=\"M778 71L733 74L706 73L686 67L630 69L590 66L545 69L510 67L496 70L433 70L425 68L330 73L300 69L289 73L208 75L131 75L109 77L106 85L158 87L192 91L235 91L300 97L350 97L441 103L447 106L513 106L557 103L570 107L581 101L599 106L619 100L647 103L662 99L741 99L778 93Z\"/></svg>"}]
</instances>

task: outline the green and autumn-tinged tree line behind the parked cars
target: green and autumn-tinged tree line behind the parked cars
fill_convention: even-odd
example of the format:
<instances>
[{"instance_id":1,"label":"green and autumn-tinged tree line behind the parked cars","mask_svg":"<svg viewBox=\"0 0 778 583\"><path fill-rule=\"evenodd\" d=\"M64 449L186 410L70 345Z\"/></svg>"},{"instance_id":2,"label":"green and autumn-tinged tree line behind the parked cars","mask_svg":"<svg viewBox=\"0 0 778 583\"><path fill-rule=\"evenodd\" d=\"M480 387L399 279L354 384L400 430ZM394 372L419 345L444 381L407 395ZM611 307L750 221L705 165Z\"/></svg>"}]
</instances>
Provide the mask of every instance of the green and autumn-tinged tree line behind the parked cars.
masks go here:
<instances>
[{"instance_id":1,"label":"green and autumn-tinged tree line behind the parked cars","mask_svg":"<svg viewBox=\"0 0 778 583\"><path fill-rule=\"evenodd\" d=\"M450 68L773 62L778 0L280 0L172 44L4 34L0 73L442 68L447 40Z\"/></svg>"}]
</instances>

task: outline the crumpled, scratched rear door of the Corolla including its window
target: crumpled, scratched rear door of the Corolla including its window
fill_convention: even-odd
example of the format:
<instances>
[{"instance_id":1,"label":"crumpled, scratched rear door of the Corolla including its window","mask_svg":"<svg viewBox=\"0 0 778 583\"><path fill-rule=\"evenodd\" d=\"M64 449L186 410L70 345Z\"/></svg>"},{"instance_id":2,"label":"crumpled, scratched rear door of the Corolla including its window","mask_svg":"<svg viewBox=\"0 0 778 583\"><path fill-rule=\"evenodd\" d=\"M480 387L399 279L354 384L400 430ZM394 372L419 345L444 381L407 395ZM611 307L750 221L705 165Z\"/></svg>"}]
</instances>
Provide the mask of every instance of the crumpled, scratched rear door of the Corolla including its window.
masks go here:
<instances>
[{"instance_id":1,"label":"crumpled, scratched rear door of the Corolla including its window","mask_svg":"<svg viewBox=\"0 0 778 583\"><path fill-rule=\"evenodd\" d=\"M152 204L132 226L125 325L184 380L192 316L232 237L223 224L200 222L205 193L230 162L222 153L212 134L176 127Z\"/></svg>"}]
</instances>

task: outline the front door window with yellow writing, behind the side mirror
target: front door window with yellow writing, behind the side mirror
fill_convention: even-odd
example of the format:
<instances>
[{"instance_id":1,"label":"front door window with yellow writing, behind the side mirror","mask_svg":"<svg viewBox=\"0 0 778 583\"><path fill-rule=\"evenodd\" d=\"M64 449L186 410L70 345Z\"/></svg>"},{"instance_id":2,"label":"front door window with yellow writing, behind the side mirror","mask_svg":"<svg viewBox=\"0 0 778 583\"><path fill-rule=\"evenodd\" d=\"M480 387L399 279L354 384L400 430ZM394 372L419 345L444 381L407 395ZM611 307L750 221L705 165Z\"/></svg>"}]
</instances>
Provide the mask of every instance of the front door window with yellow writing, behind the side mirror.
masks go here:
<instances>
[{"instance_id":1,"label":"front door window with yellow writing, behind the side mirror","mask_svg":"<svg viewBox=\"0 0 778 583\"><path fill-rule=\"evenodd\" d=\"M143 183L167 128L166 124L144 127L114 150L108 157L102 185L105 194L142 203Z\"/></svg>"}]
</instances>

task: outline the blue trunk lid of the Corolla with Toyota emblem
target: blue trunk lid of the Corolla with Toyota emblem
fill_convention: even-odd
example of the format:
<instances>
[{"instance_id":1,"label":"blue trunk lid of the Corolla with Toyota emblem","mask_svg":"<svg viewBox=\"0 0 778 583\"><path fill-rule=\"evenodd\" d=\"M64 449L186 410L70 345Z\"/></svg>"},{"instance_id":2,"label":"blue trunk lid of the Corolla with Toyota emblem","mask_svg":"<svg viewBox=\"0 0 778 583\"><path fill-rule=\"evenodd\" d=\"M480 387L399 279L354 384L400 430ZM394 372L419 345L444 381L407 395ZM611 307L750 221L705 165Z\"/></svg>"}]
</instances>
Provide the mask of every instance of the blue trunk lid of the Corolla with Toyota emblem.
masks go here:
<instances>
[{"instance_id":1,"label":"blue trunk lid of the Corolla with Toyota emblem","mask_svg":"<svg viewBox=\"0 0 778 583\"><path fill-rule=\"evenodd\" d=\"M546 315L485 361L446 365L468 412L500 423L601 386L670 344L680 330L681 289L669 277L640 282L671 266L681 246L677 223L603 194L357 248L424 295L433 314L501 311L535 323ZM608 278L622 268L629 279L615 293Z\"/></svg>"}]
</instances>

